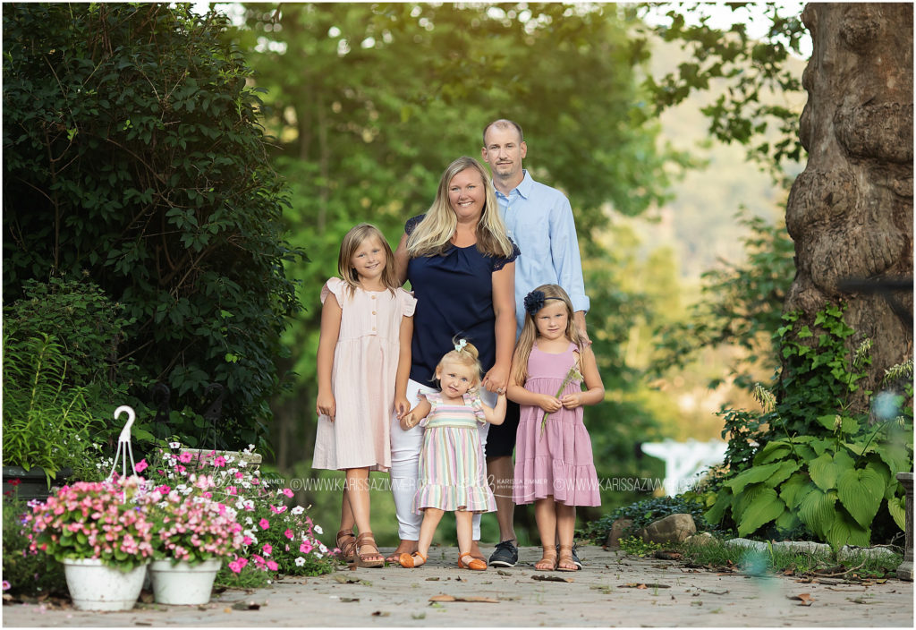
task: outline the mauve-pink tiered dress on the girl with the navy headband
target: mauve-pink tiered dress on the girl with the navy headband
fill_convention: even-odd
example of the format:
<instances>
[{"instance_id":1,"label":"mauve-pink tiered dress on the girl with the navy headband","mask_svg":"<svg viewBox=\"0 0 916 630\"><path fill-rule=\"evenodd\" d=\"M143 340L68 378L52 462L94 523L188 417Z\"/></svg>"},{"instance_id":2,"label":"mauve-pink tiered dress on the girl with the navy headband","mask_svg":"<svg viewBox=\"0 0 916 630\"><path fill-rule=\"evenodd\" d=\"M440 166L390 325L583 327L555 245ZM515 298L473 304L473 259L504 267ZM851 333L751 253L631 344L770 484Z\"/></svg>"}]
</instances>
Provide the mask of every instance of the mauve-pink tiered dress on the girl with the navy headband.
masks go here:
<instances>
[{"instance_id":1,"label":"mauve-pink tiered dress on the girl with the navy headband","mask_svg":"<svg viewBox=\"0 0 916 630\"><path fill-rule=\"evenodd\" d=\"M575 362L573 343L561 354L541 352L536 344L528 359L525 389L556 396ZM559 397L578 391L582 391L582 381L573 381ZM541 431L543 418L544 410L540 407L521 406L513 501L522 505L552 495L554 501L564 505L601 505L592 439L583 423L583 407L554 411L547 418L546 430Z\"/></svg>"}]
</instances>

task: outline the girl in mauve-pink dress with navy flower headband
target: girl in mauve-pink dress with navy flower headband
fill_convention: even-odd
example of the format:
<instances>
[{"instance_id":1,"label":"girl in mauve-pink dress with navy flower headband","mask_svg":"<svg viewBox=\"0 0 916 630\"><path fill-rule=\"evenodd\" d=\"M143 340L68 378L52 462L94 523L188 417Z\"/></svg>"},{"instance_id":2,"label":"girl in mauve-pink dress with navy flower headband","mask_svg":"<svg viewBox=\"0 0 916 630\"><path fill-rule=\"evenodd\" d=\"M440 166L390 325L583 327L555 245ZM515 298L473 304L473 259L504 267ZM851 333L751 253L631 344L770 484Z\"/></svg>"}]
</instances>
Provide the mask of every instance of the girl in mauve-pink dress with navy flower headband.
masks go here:
<instances>
[{"instance_id":1,"label":"girl in mauve-pink dress with navy flower headband","mask_svg":"<svg viewBox=\"0 0 916 630\"><path fill-rule=\"evenodd\" d=\"M600 403L605 386L573 322L566 291L542 285L525 297L525 310L508 387L508 397L521 407L512 498L517 505L535 504L544 551L534 568L578 570L572 555L575 507L601 505L582 407Z\"/></svg>"}]
</instances>

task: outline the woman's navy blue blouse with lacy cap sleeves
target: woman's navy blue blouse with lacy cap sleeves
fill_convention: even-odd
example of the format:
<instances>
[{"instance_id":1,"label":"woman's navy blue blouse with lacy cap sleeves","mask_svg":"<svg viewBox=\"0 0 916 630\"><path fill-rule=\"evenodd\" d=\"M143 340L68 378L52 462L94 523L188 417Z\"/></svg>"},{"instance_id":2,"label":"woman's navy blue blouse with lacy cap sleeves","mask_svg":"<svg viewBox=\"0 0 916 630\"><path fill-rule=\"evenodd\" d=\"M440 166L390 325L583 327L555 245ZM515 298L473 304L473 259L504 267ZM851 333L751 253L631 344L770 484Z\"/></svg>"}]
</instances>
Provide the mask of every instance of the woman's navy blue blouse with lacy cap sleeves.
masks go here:
<instances>
[{"instance_id":1,"label":"woman's navy blue blouse with lacy cap sleeves","mask_svg":"<svg viewBox=\"0 0 916 630\"><path fill-rule=\"evenodd\" d=\"M404 225L411 234L423 220L415 216ZM407 279L417 299L410 345L410 378L423 385L435 382L436 365L454 349L458 336L474 343L484 374L496 363L496 315L493 312L493 272L521 252L512 244L507 258L487 256L476 245L451 245L443 255L410 258ZM481 375L483 376L483 375Z\"/></svg>"}]
</instances>

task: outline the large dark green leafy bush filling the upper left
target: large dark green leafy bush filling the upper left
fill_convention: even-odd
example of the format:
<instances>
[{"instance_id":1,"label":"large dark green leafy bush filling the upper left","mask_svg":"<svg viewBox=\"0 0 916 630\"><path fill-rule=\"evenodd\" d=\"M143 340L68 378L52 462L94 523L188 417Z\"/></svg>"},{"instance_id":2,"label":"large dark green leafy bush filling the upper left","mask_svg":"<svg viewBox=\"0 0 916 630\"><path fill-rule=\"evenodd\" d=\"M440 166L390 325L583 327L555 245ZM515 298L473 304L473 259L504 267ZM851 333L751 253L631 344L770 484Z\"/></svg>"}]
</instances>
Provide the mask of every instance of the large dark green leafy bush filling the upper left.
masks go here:
<instances>
[{"instance_id":1,"label":"large dark green leafy bush filling the upper left","mask_svg":"<svg viewBox=\"0 0 916 630\"><path fill-rule=\"evenodd\" d=\"M196 408L223 384L222 435L246 444L278 387L297 253L226 24L189 5L5 8L4 295L85 271L124 306L134 385Z\"/></svg>"}]
</instances>

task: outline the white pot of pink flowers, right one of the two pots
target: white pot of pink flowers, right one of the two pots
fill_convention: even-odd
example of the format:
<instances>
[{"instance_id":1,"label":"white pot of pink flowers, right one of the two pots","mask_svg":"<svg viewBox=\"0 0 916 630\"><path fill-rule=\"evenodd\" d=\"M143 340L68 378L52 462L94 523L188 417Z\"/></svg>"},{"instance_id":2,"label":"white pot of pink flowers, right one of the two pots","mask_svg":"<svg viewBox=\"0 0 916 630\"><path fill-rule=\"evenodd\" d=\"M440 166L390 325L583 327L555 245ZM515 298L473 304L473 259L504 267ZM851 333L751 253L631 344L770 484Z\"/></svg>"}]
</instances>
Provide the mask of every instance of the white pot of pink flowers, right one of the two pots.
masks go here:
<instances>
[{"instance_id":1,"label":"white pot of pink flowers, right one of the two pots","mask_svg":"<svg viewBox=\"0 0 916 630\"><path fill-rule=\"evenodd\" d=\"M242 547L235 510L213 498L214 487L212 475L196 473L174 488L148 484L149 518L157 530L149 574L158 603L209 602L224 557Z\"/></svg>"}]
</instances>

